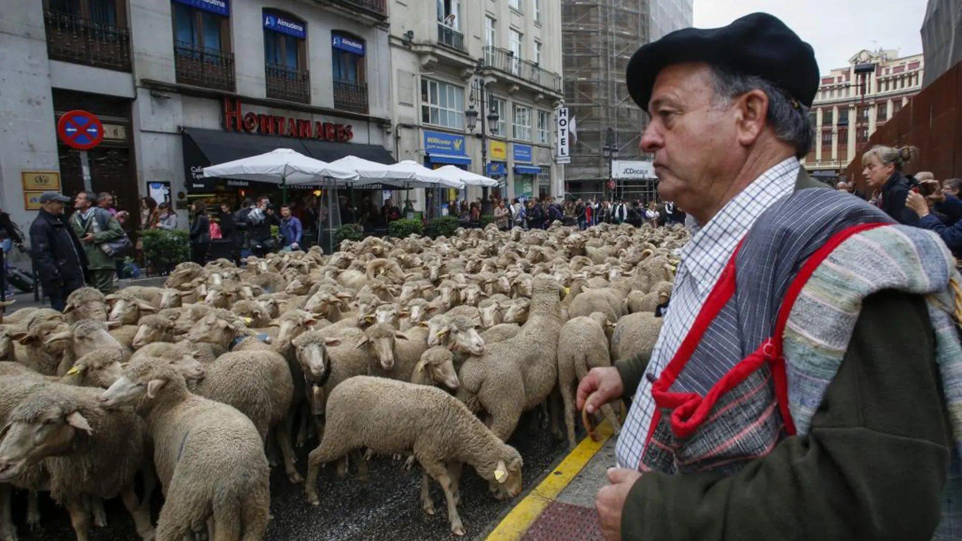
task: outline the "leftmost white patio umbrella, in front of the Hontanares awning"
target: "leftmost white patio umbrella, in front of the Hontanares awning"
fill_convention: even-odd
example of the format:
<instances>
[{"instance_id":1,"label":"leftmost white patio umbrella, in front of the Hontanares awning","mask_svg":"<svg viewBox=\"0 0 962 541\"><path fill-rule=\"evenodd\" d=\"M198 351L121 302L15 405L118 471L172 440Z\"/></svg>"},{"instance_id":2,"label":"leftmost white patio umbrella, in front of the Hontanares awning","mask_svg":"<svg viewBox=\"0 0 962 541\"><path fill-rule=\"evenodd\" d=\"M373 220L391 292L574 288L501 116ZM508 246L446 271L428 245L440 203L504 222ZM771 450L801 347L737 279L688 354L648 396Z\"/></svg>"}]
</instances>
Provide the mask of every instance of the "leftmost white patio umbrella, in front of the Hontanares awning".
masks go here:
<instances>
[{"instance_id":1,"label":"leftmost white patio umbrella, in front of the Hontanares awning","mask_svg":"<svg viewBox=\"0 0 962 541\"><path fill-rule=\"evenodd\" d=\"M304 156L290 148L278 148L266 154L204 167L204 176L283 185L314 184L323 177L358 178L354 171L331 167L325 161Z\"/></svg>"}]
</instances>

